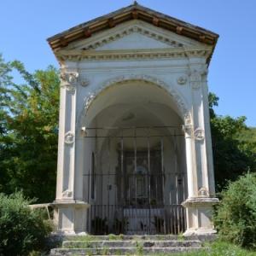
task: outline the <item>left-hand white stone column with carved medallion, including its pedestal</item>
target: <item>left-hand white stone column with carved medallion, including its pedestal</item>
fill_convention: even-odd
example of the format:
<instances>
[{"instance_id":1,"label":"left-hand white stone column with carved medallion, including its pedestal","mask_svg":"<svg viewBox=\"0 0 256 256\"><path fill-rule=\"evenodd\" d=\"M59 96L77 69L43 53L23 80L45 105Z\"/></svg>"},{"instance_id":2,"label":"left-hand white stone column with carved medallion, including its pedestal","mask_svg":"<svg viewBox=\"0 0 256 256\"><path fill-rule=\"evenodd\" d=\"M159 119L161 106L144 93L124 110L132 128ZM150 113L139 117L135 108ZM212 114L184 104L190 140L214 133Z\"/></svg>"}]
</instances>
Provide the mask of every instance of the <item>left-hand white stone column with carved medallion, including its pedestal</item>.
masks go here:
<instances>
[{"instance_id":1,"label":"left-hand white stone column with carved medallion, including its pedestal","mask_svg":"<svg viewBox=\"0 0 256 256\"><path fill-rule=\"evenodd\" d=\"M88 204L75 195L76 148L76 87L79 73L61 71L61 102L59 119L59 144L55 222L57 230L65 233L84 232Z\"/></svg>"}]
</instances>

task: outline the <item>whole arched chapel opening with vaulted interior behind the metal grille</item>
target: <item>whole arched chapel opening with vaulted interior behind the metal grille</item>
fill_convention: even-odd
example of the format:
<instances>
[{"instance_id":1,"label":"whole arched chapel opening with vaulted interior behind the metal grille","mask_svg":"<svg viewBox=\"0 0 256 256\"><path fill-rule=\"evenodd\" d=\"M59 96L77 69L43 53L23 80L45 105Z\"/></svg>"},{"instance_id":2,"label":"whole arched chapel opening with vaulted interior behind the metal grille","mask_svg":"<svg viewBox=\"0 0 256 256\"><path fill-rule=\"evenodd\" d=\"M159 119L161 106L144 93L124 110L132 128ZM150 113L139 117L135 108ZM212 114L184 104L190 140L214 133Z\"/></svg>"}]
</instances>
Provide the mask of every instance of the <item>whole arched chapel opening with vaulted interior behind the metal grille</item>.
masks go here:
<instances>
[{"instance_id":1,"label":"whole arched chapel opening with vaulted interior behind the metal grille","mask_svg":"<svg viewBox=\"0 0 256 256\"><path fill-rule=\"evenodd\" d=\"M186 229L183 119L173 97L139 79L102 90L84 116L84 201L91 234Z\"/></svg>"}]
</instances>

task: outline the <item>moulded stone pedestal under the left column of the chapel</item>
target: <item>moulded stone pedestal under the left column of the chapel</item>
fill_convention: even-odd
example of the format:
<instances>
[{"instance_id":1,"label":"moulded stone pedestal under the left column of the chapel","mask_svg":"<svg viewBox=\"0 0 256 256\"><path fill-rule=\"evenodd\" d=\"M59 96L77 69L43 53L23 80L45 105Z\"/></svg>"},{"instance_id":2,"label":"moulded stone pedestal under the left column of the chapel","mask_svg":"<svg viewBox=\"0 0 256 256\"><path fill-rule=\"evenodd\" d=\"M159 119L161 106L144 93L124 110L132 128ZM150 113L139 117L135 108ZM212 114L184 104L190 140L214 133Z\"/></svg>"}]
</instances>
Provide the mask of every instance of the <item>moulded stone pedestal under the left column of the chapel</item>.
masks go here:
<instances>
[{"instance_id":1,"label":"moulded stone pedestal under the left column of the chapel","mask_svg":"<svg viewBox=\"0 0 256 256\"><path fill-rule=\"evenodd\" d=\"M55 208L56 234L86 235L87 209L90 204L77 200L58 200L52 203Z\"/></svg>"}]
</instances>

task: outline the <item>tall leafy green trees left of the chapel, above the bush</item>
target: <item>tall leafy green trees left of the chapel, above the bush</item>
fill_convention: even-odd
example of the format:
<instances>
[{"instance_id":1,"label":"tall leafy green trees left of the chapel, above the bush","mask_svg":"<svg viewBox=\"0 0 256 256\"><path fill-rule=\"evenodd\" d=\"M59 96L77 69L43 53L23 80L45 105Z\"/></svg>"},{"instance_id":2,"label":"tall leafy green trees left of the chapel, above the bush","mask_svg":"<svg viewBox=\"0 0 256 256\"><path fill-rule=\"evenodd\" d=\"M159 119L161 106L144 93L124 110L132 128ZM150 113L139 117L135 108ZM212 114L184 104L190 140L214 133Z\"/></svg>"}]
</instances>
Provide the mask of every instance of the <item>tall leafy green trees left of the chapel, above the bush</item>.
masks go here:
<instances>
[{"instance_id":1,"label":"tall leafy green trees left of the chapel, above the bush","mask_svg":"<svg viewBox=\"0 0 256 256\"><path fill-rule=\"evenodd\" d=\"M11 71L24 84L15 84ZM55 67L28 73L22 63L0 59L0 192L22 189L38 201L55 197L59 76Z\"/></svg>"}]
</instances>

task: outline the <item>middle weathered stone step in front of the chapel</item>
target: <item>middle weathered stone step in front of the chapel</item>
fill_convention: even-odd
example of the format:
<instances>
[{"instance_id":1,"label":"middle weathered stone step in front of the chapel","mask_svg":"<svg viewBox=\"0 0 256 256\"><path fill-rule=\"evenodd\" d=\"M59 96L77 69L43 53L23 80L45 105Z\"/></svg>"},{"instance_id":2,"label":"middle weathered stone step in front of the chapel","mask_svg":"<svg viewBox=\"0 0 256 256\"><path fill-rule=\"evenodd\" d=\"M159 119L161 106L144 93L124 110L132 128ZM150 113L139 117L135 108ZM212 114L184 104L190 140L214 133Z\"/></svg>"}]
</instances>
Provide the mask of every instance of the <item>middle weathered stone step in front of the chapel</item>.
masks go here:
<instances>
[{"instance_id":1,"label":"middle weathered stone step in front of the chapel","mask_svg":"<svg viewBox=\"0 0 256 256\"><path fill-rule=\"evenodd\" d=\"M64 248L91 248L91 247L201 247L201 241L177 240L126 240L126 241L63 241Z\"/></svg>"}]
</instances>

